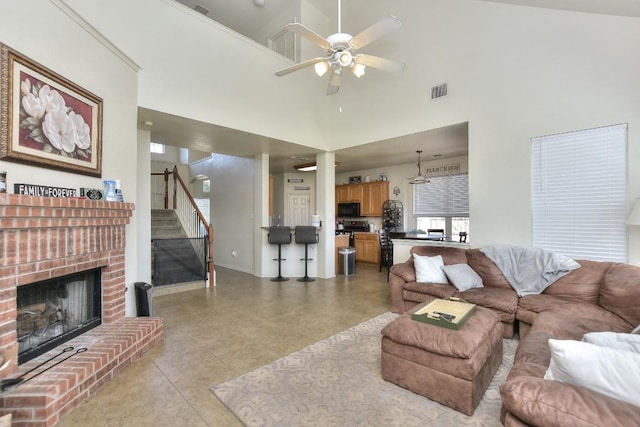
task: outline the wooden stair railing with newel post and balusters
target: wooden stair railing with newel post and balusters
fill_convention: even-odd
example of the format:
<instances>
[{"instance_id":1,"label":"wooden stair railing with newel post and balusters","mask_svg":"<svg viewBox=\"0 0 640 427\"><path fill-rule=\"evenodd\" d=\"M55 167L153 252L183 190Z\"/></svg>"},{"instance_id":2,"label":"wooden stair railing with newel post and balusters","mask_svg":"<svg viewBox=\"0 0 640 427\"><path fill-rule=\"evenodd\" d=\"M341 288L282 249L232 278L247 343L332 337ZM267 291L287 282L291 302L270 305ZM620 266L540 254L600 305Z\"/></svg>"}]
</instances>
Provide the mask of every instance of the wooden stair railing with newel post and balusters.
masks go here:
<instances>
[{"instance_id":1,"label":"wooden stair railing with newel post and balusters","mask_svg":"<svg viewBox=\"0 0 640 427\"><path fill-rule=\"evenodd\" d=\"M207 263L207 273L209 276L208 286L211 286L211 281L213 281L213 286L215 286L215 276L214 276L214 263L213 263L213 225L209 224L206 220L200 208L196 204L193 196L189 192L189 188L182 180L182 177L178 173L178 167L174 166L172 171L169 169L165 169L164 172L152 172L152 176L163 176L164 179L164 209L173 209L176 213L176 216L180 220L182 224L182 228L184 228L185 233L190 238L203 238L201 242L204 242L204 249L206 254L206 263ZM169 177L173 178L172 187L172 197L171 197L171 208L169 208ZM154 194L157 196L159 193L159 188L154 184L155 189ZM195 242L195 240L192 240ZM195 243L194 243L195 244ZM196 248L197 249L197 248Z\"/></svg>"}]
</instances>

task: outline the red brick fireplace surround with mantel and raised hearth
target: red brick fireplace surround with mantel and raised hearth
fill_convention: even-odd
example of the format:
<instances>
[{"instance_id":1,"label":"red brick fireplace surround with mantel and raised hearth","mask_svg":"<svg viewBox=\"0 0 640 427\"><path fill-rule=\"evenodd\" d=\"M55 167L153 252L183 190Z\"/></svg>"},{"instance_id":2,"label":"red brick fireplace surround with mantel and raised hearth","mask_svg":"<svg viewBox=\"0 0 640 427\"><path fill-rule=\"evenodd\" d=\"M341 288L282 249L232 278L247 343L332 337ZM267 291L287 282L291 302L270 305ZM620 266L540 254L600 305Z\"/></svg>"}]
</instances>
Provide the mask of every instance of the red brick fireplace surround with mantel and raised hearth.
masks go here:
<instances>
[{"instance_id":1,"label":"red brick fireplace surround with mantel and raised hearth","mask_svg":"<svg viewBox=\"0 0 640 427\"><path fill-rule=\"evenodd\" d=\"M54 425L162 338L161 319L125 317L125 226L133 210L132 203L0 194L0 356L10 361L0 378L18 377L62 347L87 348L0 394L0 414L11 413L13 425ZM96 268L102 324L18 366L17 288Z\"/></svg>"}]
</instances>

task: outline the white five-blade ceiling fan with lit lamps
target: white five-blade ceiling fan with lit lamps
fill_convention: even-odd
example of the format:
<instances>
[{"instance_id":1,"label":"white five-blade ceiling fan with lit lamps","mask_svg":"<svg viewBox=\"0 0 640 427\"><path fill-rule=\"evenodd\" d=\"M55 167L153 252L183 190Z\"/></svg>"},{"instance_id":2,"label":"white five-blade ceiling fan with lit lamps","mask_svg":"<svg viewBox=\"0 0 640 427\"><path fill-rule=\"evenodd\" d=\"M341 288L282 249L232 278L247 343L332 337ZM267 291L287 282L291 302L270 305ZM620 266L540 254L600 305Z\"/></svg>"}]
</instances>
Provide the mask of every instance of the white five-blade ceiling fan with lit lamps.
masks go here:
<instances>
[{"instance_id":1,"label":"white five-blade ceiling fan with lit lamps","mask_svg":"<svg viewBox=\"0 0 640 427\"><path fill-rule=\"evenodd\" d=\"M354 55L356 50L400 28L402 23L398 18L389 15L354 37L351 34L342 32L341 15L342 0L338 0L338 32L326 39L300 23L287 24L285 26L286 30L317 44L324 49L326 56L319 56L276 71L276 76L282 77L312 65L318 77L322 77L327 71L331 70L327 95L333 95L340 89L341 75L345 68L349 68L358 78L364 75L366 67L396 73L404 69L402 62L363 53Z\"/></svg>"}]
</instances>

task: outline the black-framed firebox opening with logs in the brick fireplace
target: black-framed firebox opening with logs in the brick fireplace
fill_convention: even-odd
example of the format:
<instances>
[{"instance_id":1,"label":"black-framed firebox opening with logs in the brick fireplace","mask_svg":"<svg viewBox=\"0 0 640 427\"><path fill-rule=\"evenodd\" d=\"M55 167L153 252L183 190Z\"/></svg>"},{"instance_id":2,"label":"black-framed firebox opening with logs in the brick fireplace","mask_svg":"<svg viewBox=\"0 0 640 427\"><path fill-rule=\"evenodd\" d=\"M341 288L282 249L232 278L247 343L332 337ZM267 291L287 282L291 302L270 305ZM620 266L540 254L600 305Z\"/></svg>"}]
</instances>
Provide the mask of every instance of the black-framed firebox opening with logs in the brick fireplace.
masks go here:
<instances>
[{"instance_id":1,"label":"black-framed firebox opening with logs in the brick fireplace","mask_svg":"<svg viewBox=\"0 0 640 427\"><path fill-rule=\"evenodd\" d=\"M100 325L100 269L18 287L18 364Z\"/></svg>"}]
</instances>

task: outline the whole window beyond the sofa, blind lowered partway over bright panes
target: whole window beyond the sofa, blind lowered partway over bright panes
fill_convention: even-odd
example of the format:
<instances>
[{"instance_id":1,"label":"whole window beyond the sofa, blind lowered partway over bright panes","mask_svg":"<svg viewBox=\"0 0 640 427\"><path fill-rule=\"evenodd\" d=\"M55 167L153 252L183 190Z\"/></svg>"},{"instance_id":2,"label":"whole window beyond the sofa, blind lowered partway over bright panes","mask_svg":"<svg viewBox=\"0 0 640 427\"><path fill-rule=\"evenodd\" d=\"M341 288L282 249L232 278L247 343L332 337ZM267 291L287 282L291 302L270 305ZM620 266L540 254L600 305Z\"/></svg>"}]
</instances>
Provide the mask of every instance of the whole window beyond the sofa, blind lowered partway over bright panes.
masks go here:
<instances>
[{"instance_id":1,"label":"whole window beyond the sofa, blind lowered partway over bright panes","mask_svg":"<svg viewBox=\"0 0 640 427\"><path fill-rule=\"evenodd\" d=\"M413 188L418 229L444 229L445 236L454 240L461 232L469 233L468 174L430 177L428 183Z\"/></svg>"}]
</instances>

